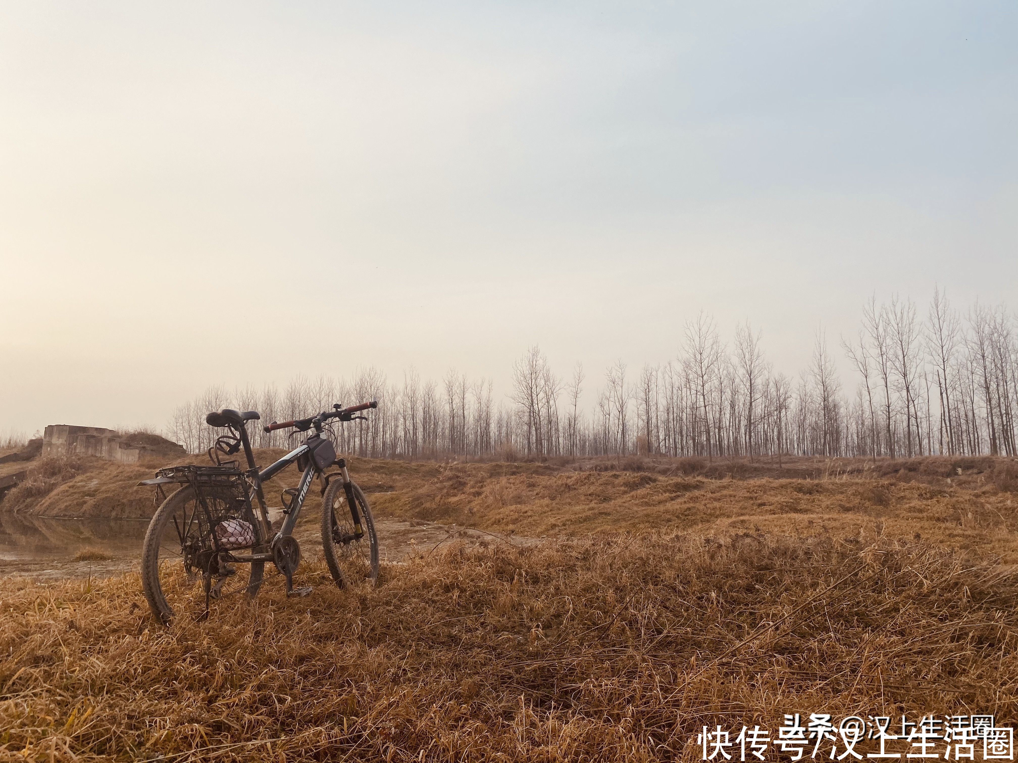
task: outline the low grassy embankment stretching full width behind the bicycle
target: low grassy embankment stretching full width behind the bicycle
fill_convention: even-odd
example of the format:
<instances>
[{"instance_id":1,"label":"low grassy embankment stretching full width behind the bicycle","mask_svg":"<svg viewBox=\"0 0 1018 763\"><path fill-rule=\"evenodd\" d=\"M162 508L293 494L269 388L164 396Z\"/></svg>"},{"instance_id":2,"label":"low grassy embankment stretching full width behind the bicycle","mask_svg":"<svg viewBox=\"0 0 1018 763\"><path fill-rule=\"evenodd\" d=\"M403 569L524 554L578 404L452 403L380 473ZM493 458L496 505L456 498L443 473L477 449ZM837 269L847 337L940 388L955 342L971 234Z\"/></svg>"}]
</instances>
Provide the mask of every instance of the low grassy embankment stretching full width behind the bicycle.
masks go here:
<instances>
[{"instance_id":1,"label":"low grassy embankment stretching full width behind the bicycle","mask_svg":"<svg viewBox=\"0 0 1018 763\"><path fill-rule=\"evenodd\" d=\"M269 464L283 454L260 451L258 461ZM394 519L533 537L695 530L720 535L830 533L860 541L921 538L1018 564L1018 480L1013 477L1018 462L935 458L904 463L910 468L899 462L869 462L858 470L852 464L835 464L819 479L681 475L670 473L678 464L665 470L648 460L642 462L644 471L602 471L588 469L584 462L560 466L350 459L350 472L369 493L376 514ZM0 511L148 517L154 510L154 491L136 483L163 465L98 459L34 462L29 479L11 490ZM781 477L785 468L772 470ZM804 467L788 468L795 474ZM279 505L279 491L296 480L291 467L269 483L270 505ZM313 490L307 511L317 511L318 500Z\"/></svg>"}]
</instances>

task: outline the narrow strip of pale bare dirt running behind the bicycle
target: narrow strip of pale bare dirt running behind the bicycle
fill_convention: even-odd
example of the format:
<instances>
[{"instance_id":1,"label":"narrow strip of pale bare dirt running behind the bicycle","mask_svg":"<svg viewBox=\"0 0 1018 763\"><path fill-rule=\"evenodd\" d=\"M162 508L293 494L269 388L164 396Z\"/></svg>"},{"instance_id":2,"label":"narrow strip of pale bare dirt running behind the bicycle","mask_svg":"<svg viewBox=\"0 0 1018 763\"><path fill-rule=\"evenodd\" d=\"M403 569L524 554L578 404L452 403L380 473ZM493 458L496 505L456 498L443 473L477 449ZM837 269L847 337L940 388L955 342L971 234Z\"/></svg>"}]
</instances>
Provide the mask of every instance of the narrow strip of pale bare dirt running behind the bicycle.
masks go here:
<instances>
[{"instance_id":1,"label":"narrow strip of pale bare dirt running behind the bicycle","mask_svg":"<svg viewBox=\"0 0 1018 763\"><path fill-rule=\"evenodd\" d=\"M380 519L376 522L379 536L379 555L382 564L399 564L403 557L414 551L430 551L444 544L463 541L468 545L509 543L510 545L533 545L539 538L505 536L484 530L474 530L456 525L442 525L436 522ZM315 561L322 555L322 539L313 523L299 525L294 536L300 543L301 553ZM0 577L24 577L33 580L61 580L64 578L105 578L137 571L140 564L140 546L130 555L118 555L112 560L73 562L70 559L51 560L3 560L0 559ZM70 554L68 554L69 556Z\"/></svg>"}]
</instances>

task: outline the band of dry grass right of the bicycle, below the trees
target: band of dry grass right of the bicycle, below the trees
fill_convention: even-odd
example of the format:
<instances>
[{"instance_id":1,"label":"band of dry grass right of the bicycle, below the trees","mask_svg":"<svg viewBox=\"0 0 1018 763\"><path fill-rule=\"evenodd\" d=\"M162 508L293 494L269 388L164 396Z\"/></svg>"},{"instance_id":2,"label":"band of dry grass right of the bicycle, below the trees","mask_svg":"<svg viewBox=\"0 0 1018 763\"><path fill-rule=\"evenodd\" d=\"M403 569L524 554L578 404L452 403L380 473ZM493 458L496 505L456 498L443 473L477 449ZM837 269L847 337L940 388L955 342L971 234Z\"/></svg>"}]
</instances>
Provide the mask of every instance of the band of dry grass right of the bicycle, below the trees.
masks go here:
<instances>
[{"instance_id":1,"label":"band of dry grass right of the bicycle, below the trees","mask_svg":"<svg viewBox=\"0 0 1018 763\"><path fill-rule=\"evenodd\" d=\"M930 460L932 461L932 460ZM916 536L1018 564L1018 495L987 472L827 479L708 479L656 472L572 471L535 464L389 466L355 462L382 515L531 536L621 530ZM919 465L921 466L921 464ZM423 470L430 473L421 474ZM414 473L414 470L419 470Z\"/></svg>"}]
</instances>

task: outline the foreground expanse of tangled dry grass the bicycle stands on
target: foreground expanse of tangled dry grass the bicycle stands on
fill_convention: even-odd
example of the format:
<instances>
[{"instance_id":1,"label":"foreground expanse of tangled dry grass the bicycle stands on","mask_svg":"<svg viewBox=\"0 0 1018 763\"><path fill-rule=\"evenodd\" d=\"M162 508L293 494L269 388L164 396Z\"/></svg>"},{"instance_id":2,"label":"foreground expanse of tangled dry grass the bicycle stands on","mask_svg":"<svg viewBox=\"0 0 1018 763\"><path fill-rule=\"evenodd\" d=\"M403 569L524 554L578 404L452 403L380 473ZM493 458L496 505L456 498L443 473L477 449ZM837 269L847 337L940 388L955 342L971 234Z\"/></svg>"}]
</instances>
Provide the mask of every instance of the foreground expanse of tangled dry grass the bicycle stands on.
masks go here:
<instances>
[{"instance_id":1,"label":"foreground expanse of tangled dry grass the bicycle stands on","mask_svg":"<svg viewBox=\"0 0 1018 763\"><path fill-rule=\"evenodd\" d=\"M453 547L154 625L136 576L0 583L0 758L660 760L785 712L1013 717L1018 585L919 543Z\"/></svg>"}]
</instances>

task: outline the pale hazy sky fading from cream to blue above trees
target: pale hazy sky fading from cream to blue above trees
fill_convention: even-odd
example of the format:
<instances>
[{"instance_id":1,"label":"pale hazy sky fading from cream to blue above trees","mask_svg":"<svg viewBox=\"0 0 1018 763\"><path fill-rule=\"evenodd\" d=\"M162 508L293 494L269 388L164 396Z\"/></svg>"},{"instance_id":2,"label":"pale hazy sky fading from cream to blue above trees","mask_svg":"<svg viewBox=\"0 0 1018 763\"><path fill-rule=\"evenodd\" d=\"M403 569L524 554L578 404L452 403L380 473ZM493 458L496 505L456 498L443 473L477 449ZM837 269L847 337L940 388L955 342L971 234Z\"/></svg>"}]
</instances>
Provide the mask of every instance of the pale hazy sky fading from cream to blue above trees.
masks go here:
<instances>
[{"instance_id":1,"label":"pale hazy sky fading from cream to blue above trees","mask_svg":"<svg viewBox=\"0 0 1018 763\"><path fill-rule=\"evenodd\" d=\"M1014 2L2 3L0 433L1014 307L1016 96Z\"/></svg>"}]
</instances>

